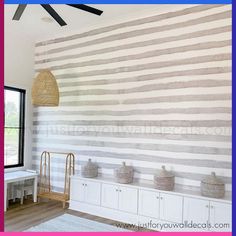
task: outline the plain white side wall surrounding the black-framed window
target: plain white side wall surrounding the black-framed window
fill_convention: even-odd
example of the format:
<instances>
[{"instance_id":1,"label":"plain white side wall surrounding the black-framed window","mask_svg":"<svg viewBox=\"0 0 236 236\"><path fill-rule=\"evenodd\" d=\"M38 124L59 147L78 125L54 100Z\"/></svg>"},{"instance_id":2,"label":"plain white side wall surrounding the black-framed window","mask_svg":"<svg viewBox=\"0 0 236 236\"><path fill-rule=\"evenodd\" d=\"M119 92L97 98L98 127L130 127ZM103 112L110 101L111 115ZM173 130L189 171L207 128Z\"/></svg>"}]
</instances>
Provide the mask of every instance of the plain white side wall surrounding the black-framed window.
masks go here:
<instances>
[{"instance_id":1,"label":"plain white side wall surrounding the black-framed window","mask_svg":"<svg viewBox=\"0 0 236 236\"><path fill-rule=\"evenodd\" d=\"M24 168L31 168L31 127L32 105L31 85L34 76L34 43L21 32L14 31L7 23L5 24L5 81L7 86L26 89L25 111L25 155ZM7 171L11 171L7 169Z\"/></svg>"}]
</instances>

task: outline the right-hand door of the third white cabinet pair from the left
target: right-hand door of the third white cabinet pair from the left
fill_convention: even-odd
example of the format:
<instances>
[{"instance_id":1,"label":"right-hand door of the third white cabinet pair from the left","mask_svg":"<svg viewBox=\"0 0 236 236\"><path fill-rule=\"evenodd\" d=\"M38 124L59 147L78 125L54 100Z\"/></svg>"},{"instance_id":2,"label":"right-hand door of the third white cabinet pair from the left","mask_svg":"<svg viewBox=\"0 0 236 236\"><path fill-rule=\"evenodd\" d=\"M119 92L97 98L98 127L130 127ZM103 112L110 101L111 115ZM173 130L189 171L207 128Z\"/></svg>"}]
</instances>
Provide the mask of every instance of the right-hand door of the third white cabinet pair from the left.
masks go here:
<instances>
[{"instance_id":1,"label":"right-hand door of the third white cabinet pair from the left","mask_svg":"<svg viewBox=\"0 0 236 236\"><path fill-rule=\"evenodd\" d=\"M183 197L160 193L160 219L176 223L183 221Z\"/></svg>"}]
</instances>

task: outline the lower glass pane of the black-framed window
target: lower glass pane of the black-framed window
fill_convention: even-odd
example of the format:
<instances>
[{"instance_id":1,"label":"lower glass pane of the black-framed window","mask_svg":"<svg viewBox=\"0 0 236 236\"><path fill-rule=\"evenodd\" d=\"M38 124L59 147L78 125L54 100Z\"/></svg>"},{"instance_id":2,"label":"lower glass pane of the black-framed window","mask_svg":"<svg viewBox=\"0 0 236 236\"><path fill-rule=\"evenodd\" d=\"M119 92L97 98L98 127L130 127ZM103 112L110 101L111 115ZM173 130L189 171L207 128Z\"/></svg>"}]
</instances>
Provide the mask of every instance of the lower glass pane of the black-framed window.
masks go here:
<instances>
[{"instance_id":1,"label":"lower glass pane of the black-framed window","mask_svg":"<svg viewBox=\"0 0 236 236\"><path fill-rule=\"evenodd\" d=\"M19 129L4 129L4 165L17 165L19 150Z\"/></svg>"}]
</instances>

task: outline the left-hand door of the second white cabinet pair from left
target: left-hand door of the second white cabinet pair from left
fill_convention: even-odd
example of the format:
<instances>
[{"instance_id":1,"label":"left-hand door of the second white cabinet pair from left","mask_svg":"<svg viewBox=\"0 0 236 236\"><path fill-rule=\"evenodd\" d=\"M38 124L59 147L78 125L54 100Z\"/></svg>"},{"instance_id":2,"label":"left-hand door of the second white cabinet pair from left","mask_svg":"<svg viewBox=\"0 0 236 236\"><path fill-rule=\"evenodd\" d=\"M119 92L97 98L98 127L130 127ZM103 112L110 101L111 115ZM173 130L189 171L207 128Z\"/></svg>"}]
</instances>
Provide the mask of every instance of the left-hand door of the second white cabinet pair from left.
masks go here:
<instances>
[{"instance_id":1,"label":"left-hand door of the second white cabinet pair from left","mask_svg":"<svg viewBox=\"0 0 236 236\"><path fill-rule=\"evenodd\" d=\"M113 184L102 184L102 201L103 207L118 209L118 186Z\"/></svg>"}]
</instances>

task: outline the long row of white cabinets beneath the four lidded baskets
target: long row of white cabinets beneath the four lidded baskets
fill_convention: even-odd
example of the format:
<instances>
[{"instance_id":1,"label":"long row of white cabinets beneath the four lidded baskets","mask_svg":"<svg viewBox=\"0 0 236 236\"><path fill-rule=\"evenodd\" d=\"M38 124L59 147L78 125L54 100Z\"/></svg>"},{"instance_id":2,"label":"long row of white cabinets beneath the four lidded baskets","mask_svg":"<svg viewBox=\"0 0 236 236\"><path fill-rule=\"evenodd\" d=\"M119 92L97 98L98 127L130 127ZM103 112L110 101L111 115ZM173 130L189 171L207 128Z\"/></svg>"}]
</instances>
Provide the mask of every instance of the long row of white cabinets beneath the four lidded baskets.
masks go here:
<instances>
[{"instance_id":1,"label":"long row of white cabinets beneath the four lidded baskets","mask_svg":"<svg viewBox=\"0 0 236 236\"><path fill-rule=\"evenodd\" d=\"M161 231L231 232L232 205L189 192L167 192L104 178L71 178L70 209L130 224L165 224ZM194 193L195 194L195 193ZM172 227L183 223L184 228ZM168 228L168 224L170 227ZM212 227L210 227L212 226Z\"/></svg>"}]
</instances>

